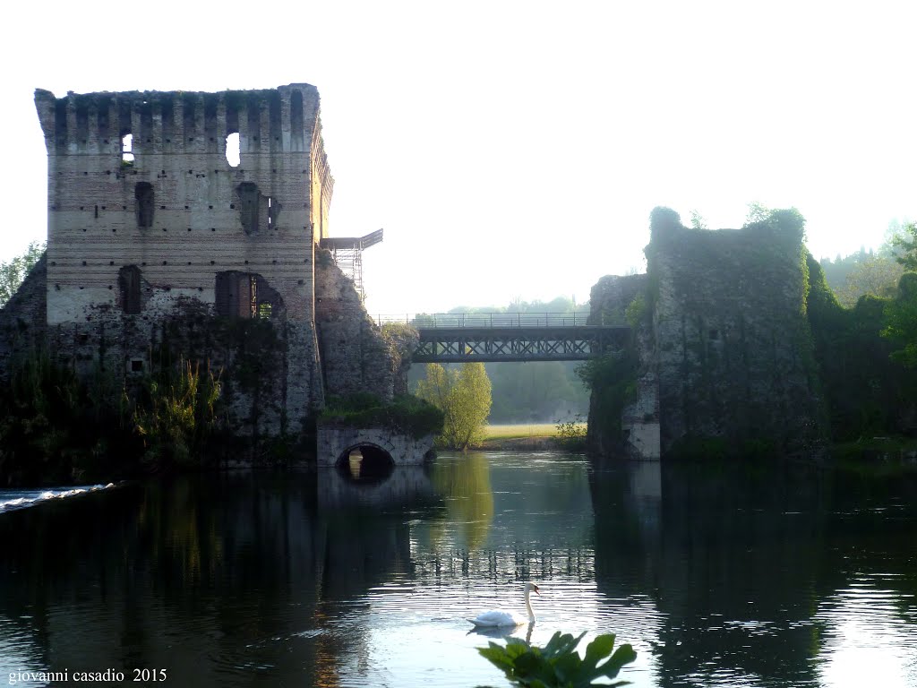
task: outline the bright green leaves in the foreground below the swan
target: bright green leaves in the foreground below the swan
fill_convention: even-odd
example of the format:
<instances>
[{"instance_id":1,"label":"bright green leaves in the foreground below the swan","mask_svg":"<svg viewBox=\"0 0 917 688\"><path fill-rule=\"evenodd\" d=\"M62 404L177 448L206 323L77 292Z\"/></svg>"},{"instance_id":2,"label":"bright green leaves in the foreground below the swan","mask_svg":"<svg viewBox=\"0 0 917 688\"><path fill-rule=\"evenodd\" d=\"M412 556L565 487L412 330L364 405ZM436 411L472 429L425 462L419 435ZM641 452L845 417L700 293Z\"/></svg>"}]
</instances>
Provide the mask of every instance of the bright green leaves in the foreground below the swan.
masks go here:
<instances>
[{"instance_id":1,"label":"bright green leaves in the foreground below the swan","mask_svg":"<svg viewBox=\"0 0 917 688\"><path fill-rule=\"evenodd\" d=\"M531 688L586 688L593 685L625 685L629 681L594 683L600 678L613 679L618 671L636 659L630 645L614 649L614 634L607 633L586 646L585 659L576 646L585 636L573 638L569 633L555 633L544 648L529 645L519 638L506 638L506 647L489 643L479 648L481 656L501 669L510 681ZM601 666L599 662L606 660Z\"/></svg>"}]
</instances>

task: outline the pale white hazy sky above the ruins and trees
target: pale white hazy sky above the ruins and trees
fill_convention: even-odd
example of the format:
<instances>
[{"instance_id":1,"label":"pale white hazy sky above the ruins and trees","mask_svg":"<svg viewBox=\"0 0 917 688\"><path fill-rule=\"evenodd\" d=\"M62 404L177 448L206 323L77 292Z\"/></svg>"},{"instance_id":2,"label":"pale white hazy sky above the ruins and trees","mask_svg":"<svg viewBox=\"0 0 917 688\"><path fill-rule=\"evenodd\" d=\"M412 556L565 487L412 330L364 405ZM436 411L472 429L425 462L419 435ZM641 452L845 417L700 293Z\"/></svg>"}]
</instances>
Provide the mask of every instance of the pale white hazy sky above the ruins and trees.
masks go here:
<instances>
[{"instance_id":1,"label":"pale white hazy sky above the ruins and trees","mask_svg":"<svg viewBox=\"0 0 917 688\"><path fill-rule=\"evenodd\" d=\"M917 217L917 5L60 2L6 10L0 259L46 236L36 87L322 95L371 313L589 297L648 215L795 205L816 257Z\"/></svg>"}]
</instances>

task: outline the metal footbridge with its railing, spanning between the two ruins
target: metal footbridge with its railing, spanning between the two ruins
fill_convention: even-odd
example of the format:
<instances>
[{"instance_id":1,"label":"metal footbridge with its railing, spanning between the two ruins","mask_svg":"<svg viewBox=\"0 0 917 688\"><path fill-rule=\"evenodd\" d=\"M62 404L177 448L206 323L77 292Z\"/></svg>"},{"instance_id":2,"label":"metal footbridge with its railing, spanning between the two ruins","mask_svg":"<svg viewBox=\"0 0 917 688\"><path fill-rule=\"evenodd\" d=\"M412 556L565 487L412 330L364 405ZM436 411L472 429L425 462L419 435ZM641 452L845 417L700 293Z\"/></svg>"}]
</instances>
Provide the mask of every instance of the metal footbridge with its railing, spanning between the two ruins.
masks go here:
<instances>
[{"instance_id":1,"label":"metal footbridge with its railing, spanning between the two ruins","mask_svg":"<svg viewBox=\"0 0 917 688\"><path fill-rule=\"evenodd\" d=\"M584 313L436 313L378 316L420 333L415 363L585 361L623 348L630 327L587 324Z\"/></svg>"}]
</instances>

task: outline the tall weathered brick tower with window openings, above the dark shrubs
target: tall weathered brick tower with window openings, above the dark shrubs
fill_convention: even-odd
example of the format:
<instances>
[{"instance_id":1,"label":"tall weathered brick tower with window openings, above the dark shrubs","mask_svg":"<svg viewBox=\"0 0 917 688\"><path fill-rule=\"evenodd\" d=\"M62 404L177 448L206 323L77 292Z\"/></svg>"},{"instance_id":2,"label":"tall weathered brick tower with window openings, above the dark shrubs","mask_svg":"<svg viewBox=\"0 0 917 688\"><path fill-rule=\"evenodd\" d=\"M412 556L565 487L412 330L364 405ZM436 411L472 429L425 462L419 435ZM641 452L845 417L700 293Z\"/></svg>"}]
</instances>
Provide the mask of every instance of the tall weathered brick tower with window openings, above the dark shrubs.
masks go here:
<instances>
[{"instance_id":1,"label":"tall weathered brick tower with window openings, above the dark shrubs","mask_svg":"<svg viewBox=\"0 0 917 688\"><path fill-rule=\"evenodd\" d=\"M337 368L356 367L358 384L391 397L378 327L344 289L323 296L338 324L328 327L335 341L319 346L315 255L334 180L314 86L62 98L39 89L35 103L48 150L48 253L27 282L31 296L17 294L0 316L0 357L24 346L25 335L13 337L23 320L47 323L38 338L81 374L140 376L165 343L226 368L238 434L274 435L298 432L326 393L353 386L323 376L320 351L361 336L371 346ZM234 164L226 149L237 135ZM32 294L39 283L45 299Z\"/></svg>"}]
</instances>

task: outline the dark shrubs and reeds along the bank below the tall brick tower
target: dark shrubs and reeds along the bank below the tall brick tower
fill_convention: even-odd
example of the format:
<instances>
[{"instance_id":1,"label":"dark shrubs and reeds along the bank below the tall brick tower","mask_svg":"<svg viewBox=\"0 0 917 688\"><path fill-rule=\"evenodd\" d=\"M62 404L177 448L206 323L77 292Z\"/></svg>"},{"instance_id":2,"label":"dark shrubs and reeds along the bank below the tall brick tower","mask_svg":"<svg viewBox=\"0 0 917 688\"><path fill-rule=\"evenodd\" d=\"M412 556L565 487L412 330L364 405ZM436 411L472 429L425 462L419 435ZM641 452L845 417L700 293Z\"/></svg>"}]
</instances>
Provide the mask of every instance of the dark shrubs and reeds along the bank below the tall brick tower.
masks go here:
<instances>
[{"instance_id":1,"label":"dark shrubs and reeds along the bank below the tall brick tower","mask_svg":"<svg viewBox=\"0 0 917 688\"><path fill-rule=\"evenodd\" d=\"M0 391L0 485L115 480L197 468L216 421L219 382L187 361L135 381L96 367L81 380L47 351L12 366Z\"/></svg>"}]
</instances>

